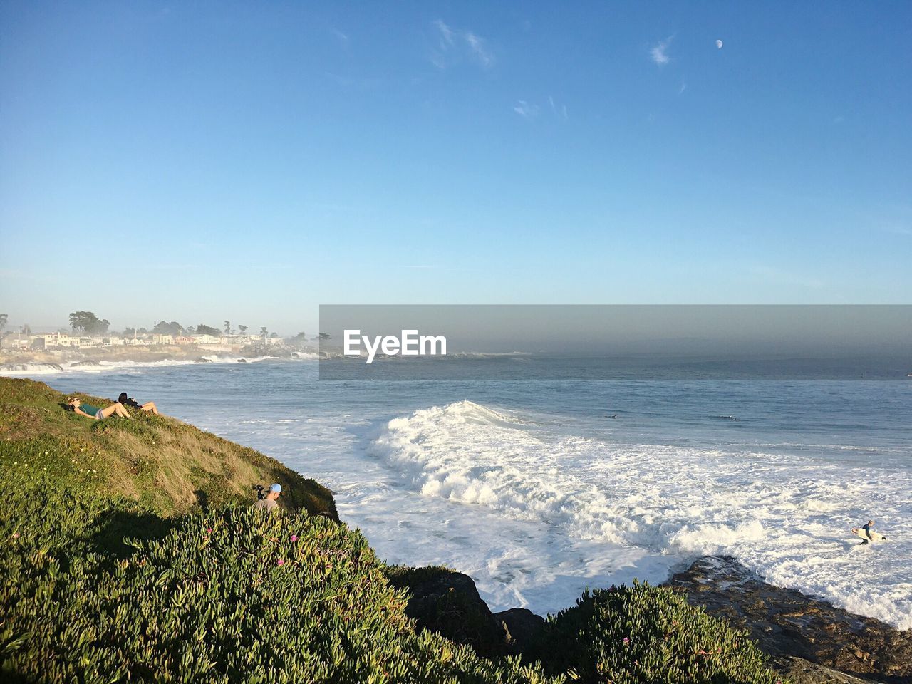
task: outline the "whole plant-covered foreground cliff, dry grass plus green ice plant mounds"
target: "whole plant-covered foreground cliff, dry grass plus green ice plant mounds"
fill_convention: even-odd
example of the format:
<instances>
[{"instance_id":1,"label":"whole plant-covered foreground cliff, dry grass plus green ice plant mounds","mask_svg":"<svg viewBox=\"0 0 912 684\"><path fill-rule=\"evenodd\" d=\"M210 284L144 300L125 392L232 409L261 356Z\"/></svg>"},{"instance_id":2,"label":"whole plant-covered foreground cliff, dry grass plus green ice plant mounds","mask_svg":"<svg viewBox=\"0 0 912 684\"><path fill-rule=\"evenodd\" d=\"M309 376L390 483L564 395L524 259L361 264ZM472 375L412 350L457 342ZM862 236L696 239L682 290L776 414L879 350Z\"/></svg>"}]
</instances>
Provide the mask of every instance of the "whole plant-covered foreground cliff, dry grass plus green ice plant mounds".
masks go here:
<instances>
[{"instance_id":1,"label":"whole plant-covered foreground cliff, dry grass plus green ice plant mounds","mask_svg":"<svg viewBox=\"0 0 912 684\"><path fill-rule=\"evenodd\" d=\"M0 378L0 679L777 679L741 633L645 586L584 596L535 658L482 658L416 629L409 577L428 573L380 563L317 482L178 420L90 420L65 399ZM257 482L283 483L283 513L251 510Z\"/></svg>"}]
</instances>

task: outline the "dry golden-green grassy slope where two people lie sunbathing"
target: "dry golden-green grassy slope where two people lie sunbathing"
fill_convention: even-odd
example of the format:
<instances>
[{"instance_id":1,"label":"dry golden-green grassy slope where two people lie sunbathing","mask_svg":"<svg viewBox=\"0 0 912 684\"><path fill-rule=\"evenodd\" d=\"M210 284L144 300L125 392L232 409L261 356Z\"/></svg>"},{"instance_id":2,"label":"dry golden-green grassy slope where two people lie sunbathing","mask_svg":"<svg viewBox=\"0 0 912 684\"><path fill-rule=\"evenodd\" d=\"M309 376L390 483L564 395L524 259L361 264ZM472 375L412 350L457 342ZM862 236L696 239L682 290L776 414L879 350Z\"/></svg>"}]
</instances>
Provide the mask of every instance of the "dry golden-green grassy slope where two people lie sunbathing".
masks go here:
<instances>
[{"instance_id":1,"label":"dry golden-green grassy slope where two people lie sunbathing","mask_svg":"<svg viewBox=\"0 0 912 684\"><path fill-rule=\"evenodd\" d=\"M259 451L139 410L131 411L134 420L90 420L65 410L67 396L94 406L111 403L81 392L64 395L34 380L0 378L0 440L7 442L5 452L33 465L42 456L42 468L47 467L44 461L51 461L55 471L67 477L83 473L80 487L136 499L163 515L194 506L205 510L252 503L254 484L279 482L286 507L303 507L338 520L326 487ZM73 467L65 467L67 463Z\"/></svg>"}]
</instances>

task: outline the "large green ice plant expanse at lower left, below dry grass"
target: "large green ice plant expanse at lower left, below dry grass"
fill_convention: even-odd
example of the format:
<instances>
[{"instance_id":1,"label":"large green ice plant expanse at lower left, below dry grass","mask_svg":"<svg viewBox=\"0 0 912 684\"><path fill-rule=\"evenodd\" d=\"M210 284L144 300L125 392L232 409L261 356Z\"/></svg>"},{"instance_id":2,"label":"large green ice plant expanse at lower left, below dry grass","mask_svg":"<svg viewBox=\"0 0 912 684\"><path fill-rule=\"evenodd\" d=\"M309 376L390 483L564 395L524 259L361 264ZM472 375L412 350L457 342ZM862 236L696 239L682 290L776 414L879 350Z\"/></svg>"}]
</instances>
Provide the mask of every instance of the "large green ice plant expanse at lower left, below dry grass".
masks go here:
<instances>
[{"instance_id":1,"label":"large green ice plant expanse at lower left, below dry grass","mask_svg":"<svg viewBox=\"0 0 912 684\"><path fill-rule=\"evenodd\" d=\"M93 488L72 462L85 451L46 472L31 446L0 458L0 679L561 681L417 634L345 525L247 507L168 521Z\"/></svg>"}]
</instances>

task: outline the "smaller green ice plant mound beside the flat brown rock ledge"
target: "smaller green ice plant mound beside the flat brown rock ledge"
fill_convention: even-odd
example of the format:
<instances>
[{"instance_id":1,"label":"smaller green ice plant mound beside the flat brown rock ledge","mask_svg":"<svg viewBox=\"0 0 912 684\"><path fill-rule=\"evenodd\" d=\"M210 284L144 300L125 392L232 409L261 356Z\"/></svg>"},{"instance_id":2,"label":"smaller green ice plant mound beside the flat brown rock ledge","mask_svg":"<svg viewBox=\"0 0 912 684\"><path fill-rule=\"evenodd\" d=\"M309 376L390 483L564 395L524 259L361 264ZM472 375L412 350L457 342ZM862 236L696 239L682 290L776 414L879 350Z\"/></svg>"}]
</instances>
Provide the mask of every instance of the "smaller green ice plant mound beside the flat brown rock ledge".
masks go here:
<instances>
[{"instance_id":1,"label":"smaller green ice plant mound beside the flat brown rock ledge","mask_svg":"<svg viewBox=\"0 0 912 684\"><path fill-rule=\"evenodd\" d=\"M747 633L648 584L586 591L550 618L551 668L571 679L615 684L776 684Z\"/></svg>"}]
</instances>

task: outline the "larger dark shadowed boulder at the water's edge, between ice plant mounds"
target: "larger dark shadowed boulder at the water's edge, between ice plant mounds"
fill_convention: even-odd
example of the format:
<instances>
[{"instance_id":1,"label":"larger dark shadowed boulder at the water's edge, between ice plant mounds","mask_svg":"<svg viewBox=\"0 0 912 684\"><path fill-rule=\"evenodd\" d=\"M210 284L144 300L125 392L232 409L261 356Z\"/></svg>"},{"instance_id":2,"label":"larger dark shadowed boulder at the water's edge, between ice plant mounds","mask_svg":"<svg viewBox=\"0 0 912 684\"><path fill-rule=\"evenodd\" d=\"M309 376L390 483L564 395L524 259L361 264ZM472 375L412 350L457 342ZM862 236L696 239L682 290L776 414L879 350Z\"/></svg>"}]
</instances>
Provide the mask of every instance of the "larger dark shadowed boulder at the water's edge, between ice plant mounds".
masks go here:
<instances>
[{"instance_id":1,"label":"larger dark shadowed boulder at the water's edge, between ice plant mounds","mask_svg":"<svg viewBox=\"0 0 912 684\"><path fill-rule=\"evenodd\" d=\"M409 586L405 612L419 627L432 629L458 644L469 644L480 656L510 653L503 624L472 582L462 573L443 573L420 584Z\"/></svg>"}]
</instances>

